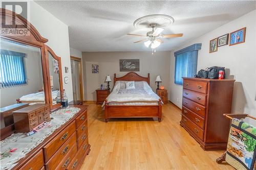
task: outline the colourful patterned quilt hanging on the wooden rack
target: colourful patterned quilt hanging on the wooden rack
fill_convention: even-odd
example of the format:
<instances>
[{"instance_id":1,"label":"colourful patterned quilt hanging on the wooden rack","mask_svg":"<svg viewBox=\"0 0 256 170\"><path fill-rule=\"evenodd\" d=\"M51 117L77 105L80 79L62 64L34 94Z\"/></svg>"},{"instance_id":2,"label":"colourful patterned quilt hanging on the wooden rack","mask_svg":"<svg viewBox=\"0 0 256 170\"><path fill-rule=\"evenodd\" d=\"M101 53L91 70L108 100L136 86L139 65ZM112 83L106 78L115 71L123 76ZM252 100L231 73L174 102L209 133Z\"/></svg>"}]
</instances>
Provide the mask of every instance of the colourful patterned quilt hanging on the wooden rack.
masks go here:
<instances>
[{"instance_id":1,"label":"colourful patterned quilt hanging on the wooden rack","mask_svg":"<svg viewBox=\"0 0 256 170\"><path fill-rule=\"evenodd\" d=\"M232 119L226 161L236 169L253 169L256 156L256 128Z\"/></svg>"}]
</instances>

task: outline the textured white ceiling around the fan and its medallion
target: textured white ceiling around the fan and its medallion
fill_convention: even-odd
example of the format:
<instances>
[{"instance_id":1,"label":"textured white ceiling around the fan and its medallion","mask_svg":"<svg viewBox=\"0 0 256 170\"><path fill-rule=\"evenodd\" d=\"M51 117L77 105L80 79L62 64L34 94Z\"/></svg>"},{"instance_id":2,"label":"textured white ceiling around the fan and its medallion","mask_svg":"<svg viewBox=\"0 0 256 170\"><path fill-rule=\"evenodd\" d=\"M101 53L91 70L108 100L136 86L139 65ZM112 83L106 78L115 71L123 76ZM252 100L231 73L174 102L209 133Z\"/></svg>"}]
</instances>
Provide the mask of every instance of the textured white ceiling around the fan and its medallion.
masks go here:
<instances>
[{"instance_id":1,"label":"textured white ceiling around the fan and its medallion","mask_svg":"<svg viewBox=\"0 0 256 170\"><path fill-rule=\"evenodd\" d=\"M151 51L142 38L126 33L146 34L133 22L150 14L174 17L174 24L162 34L183 33L163 39L157 51L170 51L256 8L255 1L36 1L69 26L70 46L82 52ZM223 33L225 34L225 33ZM218 35L216 35L218 36ZM212 37L214 38L214 37Z\"/></svg>"}]
</instances>

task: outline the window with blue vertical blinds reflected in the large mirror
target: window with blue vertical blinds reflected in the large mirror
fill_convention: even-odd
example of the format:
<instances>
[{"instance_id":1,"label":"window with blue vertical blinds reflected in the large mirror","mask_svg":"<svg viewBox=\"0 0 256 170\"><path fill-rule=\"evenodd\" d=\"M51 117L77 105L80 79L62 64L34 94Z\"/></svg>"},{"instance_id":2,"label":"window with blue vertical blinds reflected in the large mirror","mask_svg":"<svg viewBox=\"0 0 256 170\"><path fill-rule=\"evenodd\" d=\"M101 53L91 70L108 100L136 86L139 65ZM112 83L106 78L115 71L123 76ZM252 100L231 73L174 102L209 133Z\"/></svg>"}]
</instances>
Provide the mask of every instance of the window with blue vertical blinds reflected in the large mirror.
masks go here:
<instances>
[{"instance_id":1,"label":"window with blue vertical blinds reflected in the large mirror","mask_svg":"<svg viewBox=\"0 0 256 170\"><path fill-rule=\"evenodd\" d=\"M26 84L24 57L24 53L1 50L0 84L2 87Z\"/></svg>"}]
</instances>

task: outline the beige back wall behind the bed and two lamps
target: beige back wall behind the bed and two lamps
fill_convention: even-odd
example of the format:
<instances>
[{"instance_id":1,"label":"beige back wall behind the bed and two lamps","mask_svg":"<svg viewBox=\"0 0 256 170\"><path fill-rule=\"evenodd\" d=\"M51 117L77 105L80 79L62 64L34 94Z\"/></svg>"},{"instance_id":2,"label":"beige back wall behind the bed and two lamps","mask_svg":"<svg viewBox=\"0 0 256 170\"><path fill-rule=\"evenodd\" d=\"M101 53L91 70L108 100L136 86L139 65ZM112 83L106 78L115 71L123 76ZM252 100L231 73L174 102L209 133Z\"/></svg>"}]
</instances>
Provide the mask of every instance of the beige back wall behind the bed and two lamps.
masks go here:
<instances>
[{"instance_id":1,"label":"beige back wall behind the bed and two lamps","mask_svg":"<svg viewBox=\"0 0 256 170\"><path fill-rule=\"evenodd\" d=\"M97 88L103 84L106 87L106 76L110 75L112 82L110 87L113 88L114 74L117 77L124 76L127 72L120 72L119 59L139 59L140 71L136 73L140 76L147 77L150 73L150 85L155 91L157 86L155 80L157 75L162 79L161 85L166 89L169 87L169 63L170 52L156 52L154 55L151 52L95 52L82 53L83 60L83 76L84 78L84 100L96 101ZM92 64L99 65L99 74L92 74Z\"/></svg>"}]
</instances>

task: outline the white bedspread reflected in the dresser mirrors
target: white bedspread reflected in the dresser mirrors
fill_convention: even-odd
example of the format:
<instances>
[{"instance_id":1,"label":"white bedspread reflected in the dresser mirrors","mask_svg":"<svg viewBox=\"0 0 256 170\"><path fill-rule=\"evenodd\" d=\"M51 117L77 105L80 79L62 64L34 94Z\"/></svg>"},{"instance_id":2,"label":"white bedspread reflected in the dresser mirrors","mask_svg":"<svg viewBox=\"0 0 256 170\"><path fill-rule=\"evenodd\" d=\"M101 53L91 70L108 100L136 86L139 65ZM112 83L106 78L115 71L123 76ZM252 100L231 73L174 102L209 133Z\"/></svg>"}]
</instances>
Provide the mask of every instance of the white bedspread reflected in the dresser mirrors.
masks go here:
<instances>
[{"instance_id":1,"label":"white bedspread reflected in the dresser mirrors","mask_svg":"<svg viewBox=\"0 0 256 170\"><path fill-rule=\"evenodd\" d=\"M52 91L52 99L55 100L57 98L57 90L56 91ZM22 96L21 98L19 98L19 100L21 102L26 102L26 101L35 101L35 102L45 102L45 92L41 91L38 93L31 93L31 94L27 94Z\"/></svg>"}]
</instances>

